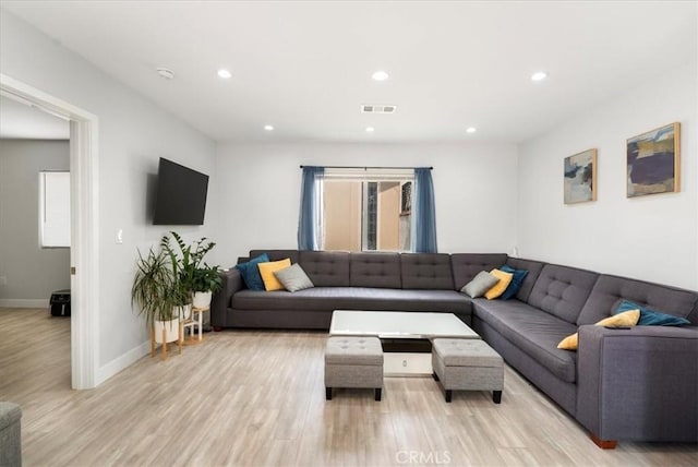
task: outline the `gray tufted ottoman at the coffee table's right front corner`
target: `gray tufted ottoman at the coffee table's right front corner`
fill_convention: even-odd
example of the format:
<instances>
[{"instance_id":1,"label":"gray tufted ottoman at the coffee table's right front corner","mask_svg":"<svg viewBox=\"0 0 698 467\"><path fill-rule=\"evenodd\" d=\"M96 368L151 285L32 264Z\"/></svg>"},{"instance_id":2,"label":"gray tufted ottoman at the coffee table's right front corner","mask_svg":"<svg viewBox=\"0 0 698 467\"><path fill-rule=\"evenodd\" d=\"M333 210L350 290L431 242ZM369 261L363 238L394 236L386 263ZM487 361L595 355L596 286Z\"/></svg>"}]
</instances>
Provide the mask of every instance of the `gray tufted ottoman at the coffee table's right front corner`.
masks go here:
<instances>
[{"instance_id":1,"label":"gray tufted ottoman at the coffee table's right front corner","mask_svg":"<svg viewBox=\"0 0 698 467\"><path fill-rule=\"evenodd\" d=\"M450 402L452 391L492 391L492 400L502 402L504 362L484 340L434 339L434 380L441 381Z\"/></svg>"}]
</instances>

